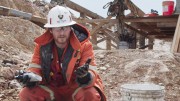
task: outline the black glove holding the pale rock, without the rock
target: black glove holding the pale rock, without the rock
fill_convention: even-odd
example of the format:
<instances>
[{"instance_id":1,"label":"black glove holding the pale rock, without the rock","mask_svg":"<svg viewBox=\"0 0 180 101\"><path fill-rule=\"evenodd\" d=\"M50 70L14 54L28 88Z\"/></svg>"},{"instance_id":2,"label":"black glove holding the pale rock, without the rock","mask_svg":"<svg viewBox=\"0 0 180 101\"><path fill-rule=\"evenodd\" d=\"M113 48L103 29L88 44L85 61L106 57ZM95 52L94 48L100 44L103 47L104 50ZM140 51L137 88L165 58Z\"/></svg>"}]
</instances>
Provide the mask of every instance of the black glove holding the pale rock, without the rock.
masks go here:
<instances>
[{"instance_id":1,"label":"black glove holding the pale rock, without the rock","mask_svg":"<svg viewBox=\"0 0 180 101\"><path fill-rule=\"evenodd\" d=\"M35 87L38 82L30 82L31 78L30 76L28 75L25 75L25 71L22 71L22 70L19 70L16 72L16 76L15 76L15 79L17 81L19 81L24 87L29 87L29 88L32 88L32 87Z\"/></svg>"}]
</instances>

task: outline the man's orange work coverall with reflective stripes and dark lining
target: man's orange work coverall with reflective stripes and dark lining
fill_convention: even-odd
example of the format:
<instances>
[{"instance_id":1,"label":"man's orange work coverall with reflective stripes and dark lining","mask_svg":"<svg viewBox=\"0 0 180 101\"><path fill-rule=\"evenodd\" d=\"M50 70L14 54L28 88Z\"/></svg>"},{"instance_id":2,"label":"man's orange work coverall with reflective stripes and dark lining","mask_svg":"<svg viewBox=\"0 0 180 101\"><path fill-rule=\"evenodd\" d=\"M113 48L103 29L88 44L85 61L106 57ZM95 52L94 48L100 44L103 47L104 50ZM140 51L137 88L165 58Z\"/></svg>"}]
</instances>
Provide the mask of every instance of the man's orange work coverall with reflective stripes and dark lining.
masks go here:
<instances>
[{"instance_id":1,"label":"man's orange work coverall with reflective stripes and dark lining","mask_svg":"<svg viewBox=\"0 0 180 101\"><path fill-rule=\"evenodd\" d=\"M27 71L42 76L43 81L33 88L24 87L19 93L21 101L106 101L102 81L93 69L96 63L89 41L90 33L79 24L72 28L69 45L64 49L61 59L49 29L35 39L32 63ZM78 36L82 33L87 37L83 39ZM84 65L89 57L92 58L89 66L91 81L80 86L74 71Z\"/></svg>"}]
</instances>

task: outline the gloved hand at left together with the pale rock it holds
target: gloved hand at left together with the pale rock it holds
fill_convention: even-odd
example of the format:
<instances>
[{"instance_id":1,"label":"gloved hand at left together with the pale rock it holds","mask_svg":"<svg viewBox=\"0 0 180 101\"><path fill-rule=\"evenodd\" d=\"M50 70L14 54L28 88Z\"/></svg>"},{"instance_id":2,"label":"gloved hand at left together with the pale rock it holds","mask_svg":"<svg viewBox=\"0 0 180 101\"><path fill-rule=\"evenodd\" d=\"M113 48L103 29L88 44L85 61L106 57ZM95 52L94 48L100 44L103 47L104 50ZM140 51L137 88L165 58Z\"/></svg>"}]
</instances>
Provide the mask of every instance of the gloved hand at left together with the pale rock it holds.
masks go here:
<instances>
[{"instance_id":1,"label":"gloved hand at left together with the pale rock it holds","mask_svg":"<svg viewBox=\"0 0 180 101\"><path fill-rule=\"evenodd\" d=\"M17 71L15 79L17 79L24 87L35 87L42 78L32 72Z\"/></svg>"}]
</instances>

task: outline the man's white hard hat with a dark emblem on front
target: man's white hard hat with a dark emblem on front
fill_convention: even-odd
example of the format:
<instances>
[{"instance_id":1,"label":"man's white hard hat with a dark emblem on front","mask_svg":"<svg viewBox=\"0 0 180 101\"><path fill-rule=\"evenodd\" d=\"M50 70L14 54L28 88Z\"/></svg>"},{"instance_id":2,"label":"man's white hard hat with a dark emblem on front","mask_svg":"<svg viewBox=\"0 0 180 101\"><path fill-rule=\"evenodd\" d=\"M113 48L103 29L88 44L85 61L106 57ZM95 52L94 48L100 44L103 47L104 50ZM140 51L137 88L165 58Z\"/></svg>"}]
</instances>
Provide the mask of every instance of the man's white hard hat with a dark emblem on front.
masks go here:
<instances>
[{"instance_id":1,"label":"man's white hard hat with a dark emblem on front","mask_svg":"<svg viewBox=\"0 0 180 101\"><path fill-rule=\"evenodd\" d=\"M72 20L69 10L62 6L53 7L47 16L47 23L44 25L46 28L63 27L76 24Z\"/></svg>"}]
</instances>

